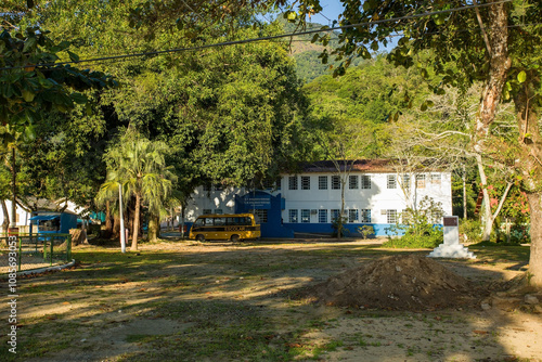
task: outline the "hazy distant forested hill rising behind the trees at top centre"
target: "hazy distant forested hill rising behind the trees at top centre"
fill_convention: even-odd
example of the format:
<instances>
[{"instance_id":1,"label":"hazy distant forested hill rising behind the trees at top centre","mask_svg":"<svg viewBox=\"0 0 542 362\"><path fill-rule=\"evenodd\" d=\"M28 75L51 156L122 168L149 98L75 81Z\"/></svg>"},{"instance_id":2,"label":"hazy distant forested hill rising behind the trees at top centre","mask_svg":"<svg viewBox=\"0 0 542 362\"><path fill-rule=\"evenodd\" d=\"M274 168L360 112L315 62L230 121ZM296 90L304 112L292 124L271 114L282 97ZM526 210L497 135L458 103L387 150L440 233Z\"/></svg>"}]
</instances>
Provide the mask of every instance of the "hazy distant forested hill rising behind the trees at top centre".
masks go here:
<instances>
[{"instance_id":1,"label":"hazy distant forested hill rising behind the trees at top centre","mask_svg":"<svg viewBox=\"0 0 542 362\"><path fill-rule=\"evenodd\" d=\"M278 17L278 22L284 27L284 33L299 33L301 29L296 29L295 25L288 23L282 16ZM318 23L309 23L307 25L307 30L320 29L323 25ZM324 35L322 33L321 35ZM320 42L312 43L311 39L314 35L302 35L293 37L291 40L291 54L296 60L296 69L299 78L305 79L306 82L310 82L313 79L331 74L330 65L334 67L339 64L335 62L333 56L330 56L327 64L322 64L322 60L318 56L325 49ZM337 33L330 33L330 43L326 47L328 51L336 48L338 44ZM360 61L354 61L353 65L357 65Z\"/></svg>"}]
</instances>

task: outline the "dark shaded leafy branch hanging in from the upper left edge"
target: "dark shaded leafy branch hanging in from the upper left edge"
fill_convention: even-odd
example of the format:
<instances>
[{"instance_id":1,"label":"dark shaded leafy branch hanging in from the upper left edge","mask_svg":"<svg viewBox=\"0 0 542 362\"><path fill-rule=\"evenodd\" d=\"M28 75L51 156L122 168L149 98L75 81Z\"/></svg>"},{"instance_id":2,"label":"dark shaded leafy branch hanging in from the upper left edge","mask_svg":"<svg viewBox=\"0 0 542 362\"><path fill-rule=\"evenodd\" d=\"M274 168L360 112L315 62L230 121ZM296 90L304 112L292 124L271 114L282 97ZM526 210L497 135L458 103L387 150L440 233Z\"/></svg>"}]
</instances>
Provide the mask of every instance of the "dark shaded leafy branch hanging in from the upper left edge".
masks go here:
<instances>
[{"instance_id":1,"label":"dark shaded leafy branch hanging in from the upper left edge","mask_svg":"<svg viewBox=\"0 0 542 362\"><path fill-rule=\"evenodd\" d=\"M27 29L0 34L0 121L20 131L50 112L67 112L86 104L81 91L115 87L101 72L79 69L62 60L79 61L70 42L54 42L47 31Z\"/></svg>"}]
</instances>

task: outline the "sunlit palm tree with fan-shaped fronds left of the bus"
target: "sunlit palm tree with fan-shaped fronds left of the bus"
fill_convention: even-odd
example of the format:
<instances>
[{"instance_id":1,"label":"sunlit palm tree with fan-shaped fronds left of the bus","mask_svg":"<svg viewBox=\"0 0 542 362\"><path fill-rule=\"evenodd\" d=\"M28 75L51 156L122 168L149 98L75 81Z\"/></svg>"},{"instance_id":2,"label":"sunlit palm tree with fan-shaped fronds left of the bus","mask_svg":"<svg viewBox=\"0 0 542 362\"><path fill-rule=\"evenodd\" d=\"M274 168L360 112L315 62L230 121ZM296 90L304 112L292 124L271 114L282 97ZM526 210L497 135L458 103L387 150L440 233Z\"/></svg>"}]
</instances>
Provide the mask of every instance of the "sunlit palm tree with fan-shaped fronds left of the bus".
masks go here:
<instances>
[{"instance_id":1,"label":"sunlit palm tree with fan-shaped fronds left of the bus","mask_svg":"<svg viewBox=\"0 0 542 362\"><path fill-rule=\"evenodd\" d=\"M168 146L164 142L150 141L129 128L104 155L107 180L96 198L116 198L115 191L119 183L126 199L136 198L131 250L138 249L141 206L146 204L151 216L159 217L164 203L171 195L177 177L171 172L171 167L166 165L167 151Z\"/></svg>"}]
</instances>

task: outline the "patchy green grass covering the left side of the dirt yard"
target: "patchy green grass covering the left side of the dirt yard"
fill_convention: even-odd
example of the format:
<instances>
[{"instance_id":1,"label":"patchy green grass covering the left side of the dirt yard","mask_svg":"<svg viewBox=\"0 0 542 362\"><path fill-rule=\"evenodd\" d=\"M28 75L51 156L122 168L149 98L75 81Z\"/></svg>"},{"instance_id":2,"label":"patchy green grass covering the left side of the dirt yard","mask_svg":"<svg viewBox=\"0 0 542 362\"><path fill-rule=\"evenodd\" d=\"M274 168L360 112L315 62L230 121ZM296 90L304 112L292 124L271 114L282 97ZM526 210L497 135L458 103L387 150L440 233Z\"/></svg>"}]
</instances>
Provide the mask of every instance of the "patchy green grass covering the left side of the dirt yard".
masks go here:
<instances>
[{"instance_id":1,"label":"patchy green grass covering the left side of the dirt yard","mask_svg":"<svg viewBox=\"0 0 542 362\"><path fill-rule=\"evenodd\" d=\"M127 350L117 357L119 361L294 361L319 359L344 344L349 346L347 348L358 345L362 348L380 347L380 341L387 339L372 329L367 332L373 332L374 336L351 334L345 337L345 341L332 339L322 342L305 338L310 331L327 329L343 323L343 311L314 308L298 299L288 300L287 296L295 295L295 292L262 292L282 288L273 279L288 279L295 287L302 287L312 283L310 277L314 271L319 273L318 279L323 279L326 274L343 271L346 266L380 255L412 251L340 243L318 244L318 247L312 244L302 249L305 245L298 244L300 250L273 248L269 243L242 248L224 246L219 251L198 246L197 251L186 251L185 248L182 253L171 251L169 246L169 250L143 248L139 255L122 255L118 247L76 249L74 255L82 261L81 267L25 281L24 287L28 290L25 302L44 311L50 308L50 311L44 312L46 315L35 314L24 325L20 340L24 350L18 350L17 358L54 358L55 352L63 349L85 350L87 345L78 342L81 336L94 338L104 331L114 333L115 325L118 325L115 323L157 318L179 323L182 327L171 335L159 336L132 331L126 340L137 345L137 351ZM486 261L493 258L516 260L514 254L503 258L496 248L486 246L480 250L477 255ZM519 247L518 250L519 256L526 248ZM250 293L247 290L255 292L238 297L245 292ZM72 305L72 309L57 312L56 308L65 301ZM121 313L118 313L119 309ZM341 315L339 321L337 315ZM404 320L409 315L408 312L403 315L352 309L347 318L352 325L351 319L401 318L405 327L413 328L412 320ZM424 322L431 329L434 325L440 326L433 314L428 319L424 316ZM434 333L442 331L435 329ZM0 342L5 346L4 341L5 337L0 336ZM104 347L107 346L99 348ZM420 352L413 347L405 351ZM5 353L5 349L0 349L0 360L14 359Z\"/></svg>"}]
</instances>

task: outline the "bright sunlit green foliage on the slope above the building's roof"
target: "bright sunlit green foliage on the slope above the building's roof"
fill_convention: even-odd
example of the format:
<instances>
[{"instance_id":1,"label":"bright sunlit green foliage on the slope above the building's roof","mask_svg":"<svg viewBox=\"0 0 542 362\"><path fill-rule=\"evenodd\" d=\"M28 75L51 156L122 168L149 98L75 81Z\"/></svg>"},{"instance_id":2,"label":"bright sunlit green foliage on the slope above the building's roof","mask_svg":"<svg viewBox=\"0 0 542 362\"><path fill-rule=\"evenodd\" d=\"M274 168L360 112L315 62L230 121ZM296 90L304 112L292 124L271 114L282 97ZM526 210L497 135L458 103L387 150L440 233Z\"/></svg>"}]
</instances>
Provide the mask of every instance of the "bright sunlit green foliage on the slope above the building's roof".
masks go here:
<instances>
[{"instance_id":1,"label":"bright sunlit green foliage on the slope above the building's roof","mask_svg":"<svg viewBox=\"0 0 542 362\"><path fill-rule=\"evenodd\" d=\"M409 133L396 116L414 118L412 108L428 96L420 72L396 68L384 56L360 63L340 79L317 78L305 91L314 127L324 129L320 139L340 144L350 158L390 156L392 140Z\"/></svg>"}]
</instances>

